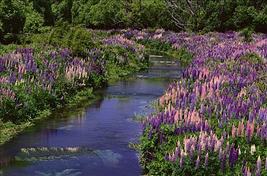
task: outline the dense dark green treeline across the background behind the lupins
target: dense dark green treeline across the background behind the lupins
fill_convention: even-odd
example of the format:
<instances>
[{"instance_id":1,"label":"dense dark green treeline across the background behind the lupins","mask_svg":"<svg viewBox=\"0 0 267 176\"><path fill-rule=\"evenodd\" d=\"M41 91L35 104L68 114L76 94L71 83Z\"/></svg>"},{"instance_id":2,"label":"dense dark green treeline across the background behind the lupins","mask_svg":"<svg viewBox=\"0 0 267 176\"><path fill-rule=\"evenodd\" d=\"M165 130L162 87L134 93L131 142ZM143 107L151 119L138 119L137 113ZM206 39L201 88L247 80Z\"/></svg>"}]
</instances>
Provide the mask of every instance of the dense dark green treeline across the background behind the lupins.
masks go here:
<instances>
[{"instance_id":1,"label":"dense dark green treeline across the background behind the lupins","mask_svg":"<svg viewBox=\"0 0 267 176\"><path fill-rule=\"evenodd\" d=\"M0 39L14 42L17 34L40 33L62 22L98 29L265 32L266 12L266 0L2 0Z\"/></svg>"}]
</instances>

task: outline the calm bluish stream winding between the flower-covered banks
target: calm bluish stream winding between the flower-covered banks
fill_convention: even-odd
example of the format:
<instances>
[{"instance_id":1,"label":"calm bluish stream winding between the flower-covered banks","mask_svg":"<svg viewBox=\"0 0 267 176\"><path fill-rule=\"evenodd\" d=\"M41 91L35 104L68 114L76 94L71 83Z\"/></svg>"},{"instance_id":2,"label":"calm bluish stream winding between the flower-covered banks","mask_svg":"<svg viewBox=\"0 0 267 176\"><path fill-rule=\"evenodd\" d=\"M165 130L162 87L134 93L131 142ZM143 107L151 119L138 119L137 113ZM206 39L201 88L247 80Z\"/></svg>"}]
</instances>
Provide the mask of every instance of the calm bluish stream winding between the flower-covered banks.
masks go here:
<instances>
[{"instance_id":1,"label":"calm bluish stream winding between the flower-covered banks","mask_svg":"<svg viewBox=\"0 0 267 176\"><path fill-rule=\"evenodd\" d=\"M109 82L96 100L67 106L1 145L1 175L140 175L137 142L141 124L134 113L148 105L186 67L168 55L151 53L146 71Z\"/></svg>"}]
</instances>

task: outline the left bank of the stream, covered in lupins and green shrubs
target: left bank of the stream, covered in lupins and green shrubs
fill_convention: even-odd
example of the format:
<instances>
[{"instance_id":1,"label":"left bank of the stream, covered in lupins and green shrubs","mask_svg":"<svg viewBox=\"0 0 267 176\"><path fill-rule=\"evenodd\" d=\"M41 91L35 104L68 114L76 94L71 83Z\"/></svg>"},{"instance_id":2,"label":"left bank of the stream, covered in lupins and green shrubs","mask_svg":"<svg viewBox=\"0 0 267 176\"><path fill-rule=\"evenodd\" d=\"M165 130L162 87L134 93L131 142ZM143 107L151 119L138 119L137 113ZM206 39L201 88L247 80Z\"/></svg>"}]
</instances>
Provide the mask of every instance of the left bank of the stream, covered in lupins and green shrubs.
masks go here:
<instances>
[{"instance_id":1,"label":"left bank of the stream, covered in lupins and green shrubs","mask_svg":"<svg viewBox=\"0 0 267 176\"><path fill-rule=\"evenodd\" d=\"M109 79L148 66L144 46L120 31L54 29L0 49L1 143L53 109L92 99Z\"/></svg>"}]
</instances>

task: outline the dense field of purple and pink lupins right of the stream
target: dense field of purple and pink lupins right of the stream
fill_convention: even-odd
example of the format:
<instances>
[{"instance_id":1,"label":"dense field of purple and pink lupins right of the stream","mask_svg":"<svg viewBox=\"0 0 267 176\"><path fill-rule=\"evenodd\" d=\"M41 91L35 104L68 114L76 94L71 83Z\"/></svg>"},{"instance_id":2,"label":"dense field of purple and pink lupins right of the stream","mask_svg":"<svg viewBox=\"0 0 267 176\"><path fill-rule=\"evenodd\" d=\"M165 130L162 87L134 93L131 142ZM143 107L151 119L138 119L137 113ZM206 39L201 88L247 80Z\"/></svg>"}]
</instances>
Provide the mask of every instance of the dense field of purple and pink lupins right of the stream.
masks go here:
<instances>
[{"instance_id":1,"label":"dense field of purple and pink lupins right of the stream","mask_svg":"<svg viewBox=\"0 0 267 176\"><path fill-rule=\"evenodd\" d=\"M141 161L149 174L265 175L267 35L130 31L193 55L142 122Z\"/></svg>"}]
</instances>

